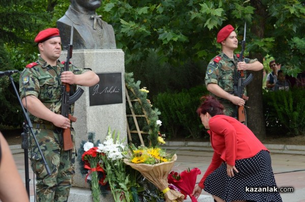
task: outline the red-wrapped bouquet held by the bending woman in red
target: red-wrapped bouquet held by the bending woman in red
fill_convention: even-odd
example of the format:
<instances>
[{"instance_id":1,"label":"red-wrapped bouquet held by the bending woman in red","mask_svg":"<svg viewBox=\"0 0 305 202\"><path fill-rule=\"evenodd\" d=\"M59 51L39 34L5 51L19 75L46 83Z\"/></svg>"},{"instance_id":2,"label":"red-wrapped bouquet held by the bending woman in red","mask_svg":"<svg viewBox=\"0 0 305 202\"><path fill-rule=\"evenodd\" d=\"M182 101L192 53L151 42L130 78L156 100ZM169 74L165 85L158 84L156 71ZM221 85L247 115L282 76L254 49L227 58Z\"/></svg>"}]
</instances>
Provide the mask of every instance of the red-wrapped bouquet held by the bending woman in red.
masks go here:
<instances>
[{"instance_id":1,"label":"red-wrapped bouquet held by the bending woman in red","mask_svg":"<svg viewBox=\"0 0 305 202\"><path fill-rule=\"evenodd\" d=\"M187 193L190 197L192 202L197 202L195 196L192 195L197 175L201 174L201 171L195 167L194 169L187 171L183 171L180 174L177 172L170 172L168 175L168 183L173 184L175 187L179 188L182 192Z\"/></svg>"}]
</instances>

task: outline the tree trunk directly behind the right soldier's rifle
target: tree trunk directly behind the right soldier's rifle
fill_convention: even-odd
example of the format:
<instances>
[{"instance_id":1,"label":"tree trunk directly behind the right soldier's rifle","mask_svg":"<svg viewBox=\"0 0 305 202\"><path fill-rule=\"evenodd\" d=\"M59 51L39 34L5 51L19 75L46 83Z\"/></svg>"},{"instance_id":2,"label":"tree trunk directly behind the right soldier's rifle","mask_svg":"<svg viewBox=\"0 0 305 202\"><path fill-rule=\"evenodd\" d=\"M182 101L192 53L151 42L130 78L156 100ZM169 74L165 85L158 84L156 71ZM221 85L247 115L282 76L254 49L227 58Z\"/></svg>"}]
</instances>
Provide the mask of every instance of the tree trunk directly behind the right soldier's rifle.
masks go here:
<instances>
[{"instance_id":1,"label":"tree trunk directly behind the right soldier's rifle","mask_svg":"<svg viewBox=\"0 0 305 202\"><path fill-rule=\"evenodd\" d=\"M262 16L259 19L253 21L251 32L256 36L263 38L264 36L264 20L263 16L266 15L265 9L260 4L259 1L251 1L251 5L256 8L255 12ZM260 53L250 53L250 58L257 58L261 63L263 63L263 56ZM258 72L252 72L254 79L247 86L247 93L249 100L247 105L247 125L253 131L257 138L260 140L266 138L266 125L264 119L263 111L263 70Z\"/></svg>"}]
</instances>

